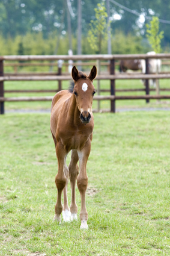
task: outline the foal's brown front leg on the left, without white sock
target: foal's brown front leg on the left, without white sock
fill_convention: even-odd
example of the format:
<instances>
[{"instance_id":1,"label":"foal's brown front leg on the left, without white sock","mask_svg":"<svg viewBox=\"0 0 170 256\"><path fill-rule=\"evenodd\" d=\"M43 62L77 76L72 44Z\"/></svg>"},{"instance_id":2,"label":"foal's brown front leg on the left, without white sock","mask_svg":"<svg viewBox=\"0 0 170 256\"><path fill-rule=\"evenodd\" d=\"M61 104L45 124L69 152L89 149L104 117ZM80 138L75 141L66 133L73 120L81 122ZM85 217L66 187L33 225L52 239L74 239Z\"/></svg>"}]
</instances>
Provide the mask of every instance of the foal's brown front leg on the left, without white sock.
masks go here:
<instances>
[{"instance_id":1,"label":"foal's brown front leg on the left, without white sock","mask_svg":"<svg viewBox=\"0 0 170 256\"><path fill-rule=\"evenodd\" d=\"M58 220L59 222L61 222L61 217L60 217L62 212L61 195L62 195L62 190L64 189L65 184L67 182L65 172L64 172L67 152L65 152L64 146L62 145L61 142L58 142L56 144L56 157L58 160L58 173L55 176L55 184L56 184L58 193L57 193L57 200L55 205L54 220Z\"/></svg>"}]
</instances>

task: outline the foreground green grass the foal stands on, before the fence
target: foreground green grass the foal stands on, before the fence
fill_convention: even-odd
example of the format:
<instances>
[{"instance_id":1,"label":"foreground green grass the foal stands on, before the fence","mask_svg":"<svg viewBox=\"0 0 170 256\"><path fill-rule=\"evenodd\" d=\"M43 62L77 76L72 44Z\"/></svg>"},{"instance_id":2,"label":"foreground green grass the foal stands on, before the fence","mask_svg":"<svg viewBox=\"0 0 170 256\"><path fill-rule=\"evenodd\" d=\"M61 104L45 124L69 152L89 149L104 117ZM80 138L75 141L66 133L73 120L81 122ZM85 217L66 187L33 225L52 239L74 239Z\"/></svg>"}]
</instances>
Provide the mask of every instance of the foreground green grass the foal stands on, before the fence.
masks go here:
<instances>
[{"instance_id":1,"label":"foreground green grass the foal stands on, before the fence","mask_svg":"<svg viewBox=\"0 0 170 256\"><path fill-rule=\"evenodd\" d=\"M57 161L49 119L0 116L0 255L169 255L169 112L94 114L88 230L79 218L52 221ZM77 189L76 200L79 214Z\"/></svg>"}]
</instances>

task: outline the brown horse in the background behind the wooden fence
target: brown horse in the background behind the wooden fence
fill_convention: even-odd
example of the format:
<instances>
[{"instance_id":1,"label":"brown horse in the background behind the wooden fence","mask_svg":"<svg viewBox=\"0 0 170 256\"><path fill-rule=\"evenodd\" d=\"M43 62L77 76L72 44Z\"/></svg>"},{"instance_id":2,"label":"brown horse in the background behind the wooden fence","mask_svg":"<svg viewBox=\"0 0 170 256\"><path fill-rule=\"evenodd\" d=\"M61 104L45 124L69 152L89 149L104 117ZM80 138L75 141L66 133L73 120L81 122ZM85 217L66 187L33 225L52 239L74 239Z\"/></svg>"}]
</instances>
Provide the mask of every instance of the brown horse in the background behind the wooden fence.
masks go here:
<instances>
[{"instance_id":1,"label":"brown horse in the background behind the wooden fence","mask_svg":"<svg viewBox=\"0 0 170 256\"><path fill-rule=\"evenodd\" d=\"M131 69L131 70L142 69L141 60L121 60L120 72L126 72L127 69Z\"/></svg>"}]
</instances>

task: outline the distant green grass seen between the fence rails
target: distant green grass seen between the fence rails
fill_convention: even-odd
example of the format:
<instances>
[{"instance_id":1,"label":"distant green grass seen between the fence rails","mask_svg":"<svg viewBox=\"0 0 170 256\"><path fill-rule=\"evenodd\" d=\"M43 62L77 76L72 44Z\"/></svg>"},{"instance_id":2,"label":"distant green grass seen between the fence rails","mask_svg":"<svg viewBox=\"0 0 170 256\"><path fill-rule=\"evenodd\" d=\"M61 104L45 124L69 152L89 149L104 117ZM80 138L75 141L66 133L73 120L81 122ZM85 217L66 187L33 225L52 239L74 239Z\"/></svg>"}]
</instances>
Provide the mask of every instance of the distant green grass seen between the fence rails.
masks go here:
<instances>
[{"instance_id":1,"label":"distant green grass seen between the fence rails","mask_svg":"<svg viewBox=\"0 0 170 256\"><path fill-rule=\"evenodd\" d=\"M57 81L10 81L5 82L5 90L21 90L21 89L57 89ZM62 81L62 88L68 89L69 81ZM94 86L97 88L97 81L94 80ZM143 84L140 80L117 80L115 82L117 89L144 89ZM103 80L100 84L101 89L109 89L110 81ZM169 80L160 80L160 88L170 88ZM117 95L145 95L145 92L117 92ZM156 94L156 92L151 92ZM162 95L168 95L169 92L161 92ZM5 93L7 97L14 96L53 96L55 93ZM101 95L109 95L109 92L101 93ZM120 100L116 101L116 108L148 108L148 107L169 107L168 100L162 100L157 103L156 100L150 100L150 104L146 104L145 100ZM5 110L13 109L50 109L50 102L5 102ZM103 110L109 110L110 101L101 101L100 108ZM97 101L93 103L93 109L97 109Z\"/></svg>"}]
</instances>

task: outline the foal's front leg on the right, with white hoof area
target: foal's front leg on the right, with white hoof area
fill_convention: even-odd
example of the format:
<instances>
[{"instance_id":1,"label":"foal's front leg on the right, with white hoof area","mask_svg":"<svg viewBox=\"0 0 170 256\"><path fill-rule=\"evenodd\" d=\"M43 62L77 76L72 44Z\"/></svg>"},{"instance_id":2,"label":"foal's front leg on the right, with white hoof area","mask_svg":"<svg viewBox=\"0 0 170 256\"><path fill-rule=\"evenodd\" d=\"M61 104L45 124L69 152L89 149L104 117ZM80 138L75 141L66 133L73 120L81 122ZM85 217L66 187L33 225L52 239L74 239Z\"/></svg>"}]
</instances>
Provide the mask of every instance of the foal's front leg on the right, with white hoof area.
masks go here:
<instances>
[{"instance_id":1,"label":"foal's front leg on the right, with white hoof area","mask_svg":"<svg viewBox=\"0 0 170 256\"><path fill-rule=\"evenodd\" d=\"M80 192L81 197L81 211L80 211L80 220L81 225L80 228L88 228L87 220L88 220L88 213L85 205L85 193L87 190L88 185L88 176L87 176L87 160L90 155L90 149L91 149L91 141L88 140L88 142L85 144L85 147L82 149L82 151L77 151L79 155L79 167L80 167L80 173L77 176L77 187Z\"/></svg>"}]
</instances>

